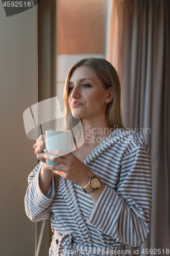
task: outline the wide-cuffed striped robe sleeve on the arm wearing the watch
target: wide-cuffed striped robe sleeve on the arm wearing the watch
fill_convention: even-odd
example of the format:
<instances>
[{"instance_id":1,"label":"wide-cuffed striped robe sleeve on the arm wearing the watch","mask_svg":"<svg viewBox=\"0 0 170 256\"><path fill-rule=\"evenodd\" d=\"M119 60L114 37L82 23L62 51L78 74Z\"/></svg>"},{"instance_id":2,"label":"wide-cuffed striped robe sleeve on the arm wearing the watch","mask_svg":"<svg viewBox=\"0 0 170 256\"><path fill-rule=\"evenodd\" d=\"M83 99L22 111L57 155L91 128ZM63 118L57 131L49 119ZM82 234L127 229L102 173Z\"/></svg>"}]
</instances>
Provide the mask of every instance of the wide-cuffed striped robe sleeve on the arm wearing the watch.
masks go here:
<instances>
[{"instance_id":1,"label":"wide-cuffed striped robe sleeve on the arm wearing the watch","mask_svg":"<svg viewBox=\"0 0 170 256\"><path fill-rule=\"evenodd\" d=\"M137 146L121 162L117 191L105 186L88 223L116 240L141 245L148 236L151 217L151 159Z\"/></svg>"}]
</instances>

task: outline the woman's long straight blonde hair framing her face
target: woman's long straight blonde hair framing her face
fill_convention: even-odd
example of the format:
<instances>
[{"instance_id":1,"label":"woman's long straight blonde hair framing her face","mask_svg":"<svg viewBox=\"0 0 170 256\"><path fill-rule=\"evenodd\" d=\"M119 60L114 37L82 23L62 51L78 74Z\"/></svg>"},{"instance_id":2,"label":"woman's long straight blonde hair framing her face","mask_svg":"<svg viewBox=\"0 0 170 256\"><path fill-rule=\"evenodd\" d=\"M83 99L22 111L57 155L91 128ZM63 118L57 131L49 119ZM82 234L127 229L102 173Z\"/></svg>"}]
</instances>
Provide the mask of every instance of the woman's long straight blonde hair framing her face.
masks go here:
<instances>
[{"instance_id":1,"label":"woman's long straight blonde hair framing her face","mask_svg":"<svg viewBox=\"0 0 170 256\"><path fill-rule=\"evenodd\" d=\"M106 59L102 58L85 58L79 60L75 65L73 65L67 75L65 86L64 86L64 116L70 116L71 111L68 105L68 83L72 73L79 67L88 67L95 75L100 79L103 87L107 90L113 87L114 98L108 103L106 109L106 122L109 127L114 128L124 128L122 115L121 115L121 89L120 80L118 74L114 67ZM125 129L125 128L124 128Z\"/></svg>"}]
</instances>

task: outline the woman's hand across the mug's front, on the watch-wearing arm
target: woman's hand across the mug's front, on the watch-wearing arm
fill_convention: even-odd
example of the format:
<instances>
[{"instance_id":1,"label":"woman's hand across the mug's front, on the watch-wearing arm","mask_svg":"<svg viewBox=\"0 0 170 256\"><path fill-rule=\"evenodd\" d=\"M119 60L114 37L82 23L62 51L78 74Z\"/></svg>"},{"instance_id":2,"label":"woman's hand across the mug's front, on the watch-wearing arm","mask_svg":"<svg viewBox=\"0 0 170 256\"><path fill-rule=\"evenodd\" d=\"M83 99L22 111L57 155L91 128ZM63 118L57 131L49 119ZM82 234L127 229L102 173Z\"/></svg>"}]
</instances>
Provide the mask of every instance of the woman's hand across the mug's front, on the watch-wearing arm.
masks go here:
<instances>
[{"instance_id":1,"label":"woman's hand across the mug's front, on the watch-wearing arm","mask_svg":"<svg viewBox=\"0 0 170 256\"><path fill-rule=\"evenodd\" d=\"M89 178L95 176L90 168L72 153L48 149L44 158L60 164L50 165L44 163L46 169L54 170L56 174L81 186L86 186Z\"/></svg>"}]
</instances>

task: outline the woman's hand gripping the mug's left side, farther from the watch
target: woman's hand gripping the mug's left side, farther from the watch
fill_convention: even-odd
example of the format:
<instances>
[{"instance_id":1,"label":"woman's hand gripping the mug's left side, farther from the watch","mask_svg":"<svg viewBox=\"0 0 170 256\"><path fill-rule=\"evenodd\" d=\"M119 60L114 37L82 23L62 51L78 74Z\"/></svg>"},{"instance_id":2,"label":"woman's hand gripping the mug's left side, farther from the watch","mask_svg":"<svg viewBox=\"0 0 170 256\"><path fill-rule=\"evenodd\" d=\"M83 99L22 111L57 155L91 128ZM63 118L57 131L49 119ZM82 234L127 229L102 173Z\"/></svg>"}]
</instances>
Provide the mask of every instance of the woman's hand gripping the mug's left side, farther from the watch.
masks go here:
<instances>
[{"instance_id":1,"label":"woman's hand gripping the mug's left side, farther from the watch","mask_svg":"<svg viewBox=\"0 0 170 256\"><path fill-rule=\"evenodd\" d=\"M43 157L44 150L45 150L45 135L39 136L39 138L36 140L36 143L34 144L34 150L35 154L37 155L37 159L40 160L41 162L45 163L46 160Z\"/></svg>"}]
</instances>

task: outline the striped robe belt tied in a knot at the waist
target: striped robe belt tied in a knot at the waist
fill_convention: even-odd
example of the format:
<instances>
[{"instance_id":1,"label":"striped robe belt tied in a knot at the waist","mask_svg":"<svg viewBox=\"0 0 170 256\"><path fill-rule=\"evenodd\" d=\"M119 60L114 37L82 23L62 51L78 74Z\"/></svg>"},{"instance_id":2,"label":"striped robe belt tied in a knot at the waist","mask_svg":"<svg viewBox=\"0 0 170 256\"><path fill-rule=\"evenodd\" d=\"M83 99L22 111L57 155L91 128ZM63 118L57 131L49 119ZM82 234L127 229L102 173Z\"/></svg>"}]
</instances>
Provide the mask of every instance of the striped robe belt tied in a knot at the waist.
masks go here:
<instances>
[{"instance_id":1,"label":"striped robe belt tied in a knot at the waist","mask_svg":"<svg viewBox=\"0 0 170 256\"><path fill-rule=\"evenodd\" d=\"M65 233L61 236L59 233L55 232L53 239L58 240L57 255L72 255L72 256L90 256L90 255L113 255L113 256L125 256L128 248L126 244L115 247L97 247L97 246L86 246L79 245L77 243L72 243L72 234ZM74 252L74 253L71 253Z\"/></svg>"}]
</instances>

